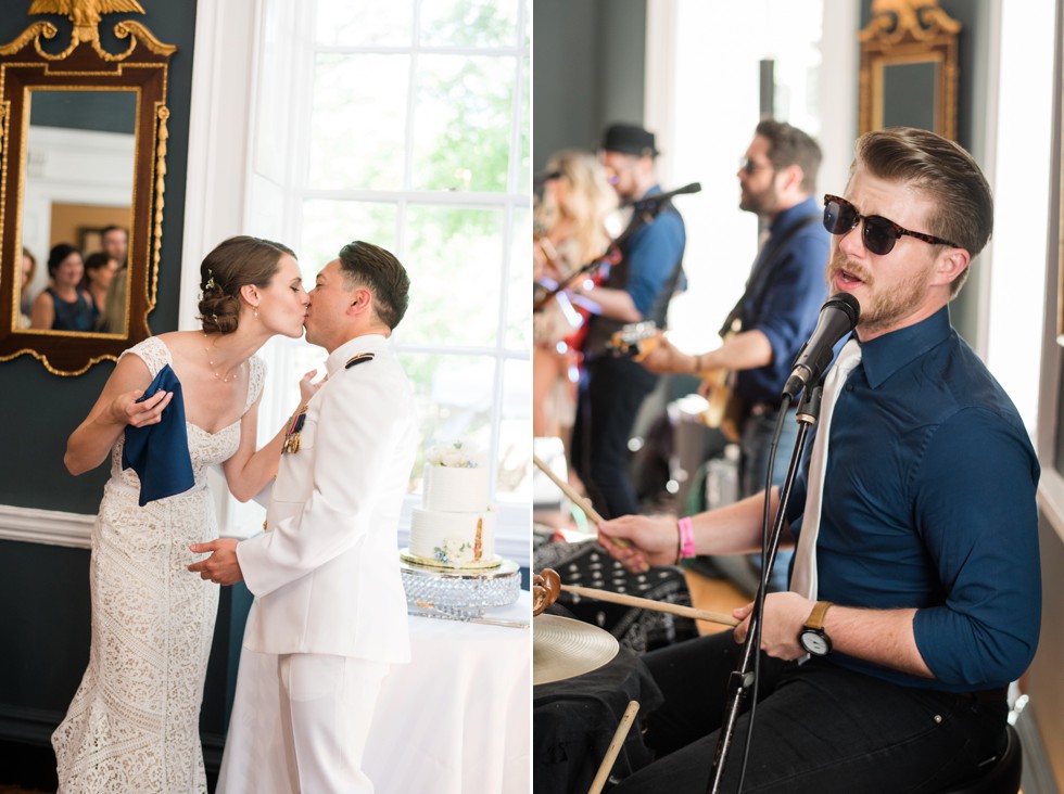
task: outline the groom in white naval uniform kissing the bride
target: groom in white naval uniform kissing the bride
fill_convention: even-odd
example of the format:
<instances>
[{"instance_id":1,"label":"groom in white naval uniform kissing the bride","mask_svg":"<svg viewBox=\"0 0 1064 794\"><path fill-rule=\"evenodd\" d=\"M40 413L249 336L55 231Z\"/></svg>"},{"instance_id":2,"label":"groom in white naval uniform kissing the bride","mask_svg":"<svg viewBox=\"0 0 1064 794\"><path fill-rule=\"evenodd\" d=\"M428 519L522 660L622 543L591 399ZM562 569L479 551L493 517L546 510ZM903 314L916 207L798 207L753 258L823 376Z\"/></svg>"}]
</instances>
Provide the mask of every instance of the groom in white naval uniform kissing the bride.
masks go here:
<instances>
[{"instance_id":1,"label":"groom in white naval uniform kissing the bride","mask_svg":"<svg viewBox=\"0 0 1064 794\"><path fill-rule=\"evenodd\" d=\"M255 596L244 649L269 654L270 671L277 659L280 703L254 707L281 712L264 715L286 733L288 784L269 782L278 791L371 792L359 767L380 682L391 663L409 661L396 534L418 433L388 338L408 289L398 260L368 243L344 246L321 270L305 325L307 342L329 351L328 377L289 423L267 530L192 547L214 553L190 571L220 585L242 578ZM246 746L235 737L243 729L235 720L229 745ZM259 790L233 783L228 794Z\"/></svg>"}]
</instances>

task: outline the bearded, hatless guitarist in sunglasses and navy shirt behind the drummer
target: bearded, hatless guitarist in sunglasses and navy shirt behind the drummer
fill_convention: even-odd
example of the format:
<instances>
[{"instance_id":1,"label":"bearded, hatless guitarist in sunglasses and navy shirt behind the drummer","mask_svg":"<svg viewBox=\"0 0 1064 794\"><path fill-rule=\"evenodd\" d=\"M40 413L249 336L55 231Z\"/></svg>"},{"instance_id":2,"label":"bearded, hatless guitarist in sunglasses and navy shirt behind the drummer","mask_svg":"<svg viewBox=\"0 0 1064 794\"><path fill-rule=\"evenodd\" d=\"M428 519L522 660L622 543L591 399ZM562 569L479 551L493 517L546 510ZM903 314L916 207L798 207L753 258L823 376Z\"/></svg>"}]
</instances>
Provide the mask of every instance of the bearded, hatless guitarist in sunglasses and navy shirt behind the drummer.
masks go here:
<instances>
[{"instance_id":1,"label":"bearded, hatless guitarist in sunglasses and navy shirt behind the drummer","mask_svg":"<svg viewBox=\"0 0 1064 794\"><path fill-rule=\"evenodd\" d=\"M735 402L730 413L738 424L742 450L739 497L764 489L780 395L827 297L824 264L831 238L821 227L814 197L820 163L820 145L797 127L775 120L757 126L736 176L739 207L757 215L768 235L743 296L721 328L724 342L709 353L688 356L662 341L643 361L655 372L718 373L718 381L723 380L724 371L733 373L730 380ZM709 397L721 399L720 395ZM781 449L794 446L797 432L798 425L787 421ZM773 485L782 485L786 474L787 457L778 456L772 470ZM774 590L787 589L790 554L783 552L774 568ZM747 593L753 593L761 579L760 554L700 562L724 573Z\"/></svg>"}]
</instances>

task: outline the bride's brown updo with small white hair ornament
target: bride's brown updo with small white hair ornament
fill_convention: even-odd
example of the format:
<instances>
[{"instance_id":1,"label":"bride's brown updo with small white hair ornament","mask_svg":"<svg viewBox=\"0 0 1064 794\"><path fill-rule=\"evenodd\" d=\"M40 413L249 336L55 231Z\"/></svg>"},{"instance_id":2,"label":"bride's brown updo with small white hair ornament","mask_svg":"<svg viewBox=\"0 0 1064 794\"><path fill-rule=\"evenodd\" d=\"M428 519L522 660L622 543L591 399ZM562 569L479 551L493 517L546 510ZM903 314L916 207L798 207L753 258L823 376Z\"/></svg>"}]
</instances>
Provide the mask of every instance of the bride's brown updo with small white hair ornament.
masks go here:
<instances>
[{"instance_id":1,"label":"bride's brown updo with small white hair ornament","mask_svg":"<svg viewBox=\"0 0 1064 794\"><path fill-rule=\"evenodd\" d=\"M200 317L206 333L231 334L240 322L240 287L266 287L277 264L295 253L287 245L246 235L229 238L200 265Z\"/></svg>"}]
</instances>

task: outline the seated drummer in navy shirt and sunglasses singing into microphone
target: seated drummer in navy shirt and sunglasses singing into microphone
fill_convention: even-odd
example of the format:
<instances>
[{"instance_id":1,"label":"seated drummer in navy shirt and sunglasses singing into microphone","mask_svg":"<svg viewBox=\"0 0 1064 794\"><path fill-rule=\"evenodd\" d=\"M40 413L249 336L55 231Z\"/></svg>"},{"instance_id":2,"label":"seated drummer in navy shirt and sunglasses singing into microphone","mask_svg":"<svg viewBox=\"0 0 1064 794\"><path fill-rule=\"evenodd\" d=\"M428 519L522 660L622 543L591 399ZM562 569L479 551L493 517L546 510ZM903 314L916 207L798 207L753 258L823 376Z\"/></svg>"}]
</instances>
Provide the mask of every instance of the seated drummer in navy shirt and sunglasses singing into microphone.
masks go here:
<instances>
[{"instance_id":1,"label":"seated drummer in navy shirt and sunglasses singing into microphone","mask_svg":"<svg viewBox=\"0 0 1064 794\"><path fill-rule=\"evenodd\" d=\"M834 235L829 286L861 305L847 343L860 358L834 402L815 594L765 598L744 791L952 789L1002 752L1008 687L1034 657L1041 609L1038 460L949 318L990 236L993 203L967 152L895 128L858 141L845 196L826 196L823 220ZM793 537L807 532L809 451L785 514ZM774 513L778 494L769 498ZM599 536L645 569L675 561L677 536L699 553L758 545L763 508L752 497L686 527L625 516ZM734 636L644 657L666 697L646 734L658 760L616 794L706 790L749 614L735 611ZM740 743L724 791L736 790Z\"/></svg>"}]
</instances>

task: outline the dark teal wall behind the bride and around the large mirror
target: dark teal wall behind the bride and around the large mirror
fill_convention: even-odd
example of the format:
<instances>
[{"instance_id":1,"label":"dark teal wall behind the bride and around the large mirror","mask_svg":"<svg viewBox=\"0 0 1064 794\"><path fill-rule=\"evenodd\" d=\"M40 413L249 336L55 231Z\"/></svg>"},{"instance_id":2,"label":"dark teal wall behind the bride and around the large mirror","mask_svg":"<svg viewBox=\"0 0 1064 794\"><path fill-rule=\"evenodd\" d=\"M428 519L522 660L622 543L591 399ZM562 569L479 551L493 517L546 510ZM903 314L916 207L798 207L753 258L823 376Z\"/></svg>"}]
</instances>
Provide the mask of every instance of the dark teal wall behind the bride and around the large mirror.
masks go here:
<instances>
[{"instance_id":1,"label":"dark teal wall behind the bride and around the large mirror","mask_svg":"<svg viewBox=\"0 0 1064 794\"><path fill-rule=\"evenodd\" d=\"M161 41L176 44L167 93L170 108L159 300L149 324L154 333L177 328L185 179L192 85L195 0L140 0L147 15L107 14L104 30L136 18ZM0 42L31 22L30 0L0 0ZM68 21L48 15L69 40ZM126 44L104 47L119 51ZM48 373L34 358L0 362L0 504L94 514L106 466L72 477L63 466L66 438L88 413L111 374L111 362L76 377ZM39 543L0 541L0 768L2 742L48 746L88 662L89 552ZM246 590L226 590L206 686L202 728L208 764L217 765L231 692L232 642L239 648ZM236 616L236 617L235 617ZM239 624L239 628L237 627ZM232 635L237 637L233 638ZM48 758L48 756L45 756ZM2 779L0 779L2 780ZM2 782L17 782L2 780Z\"/></svg>"}]
</instances>

